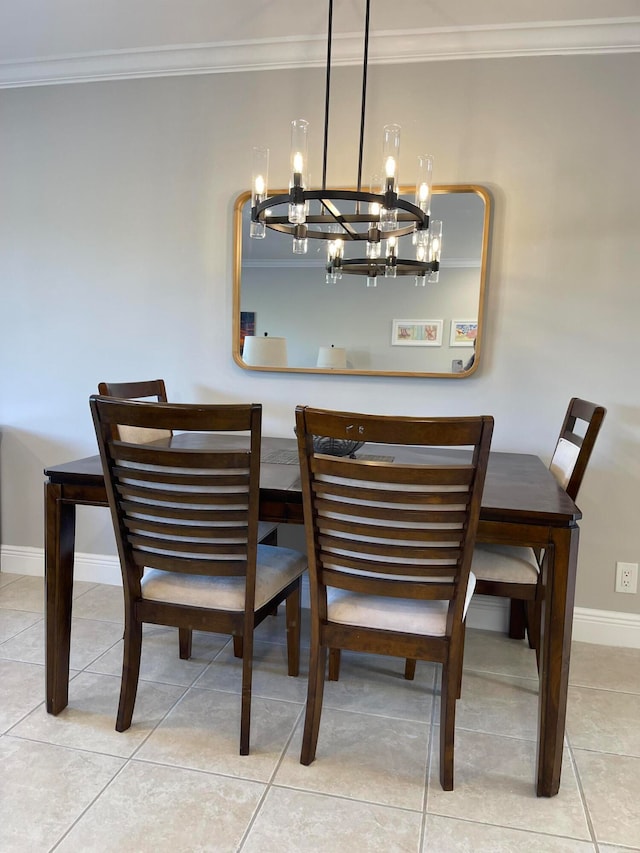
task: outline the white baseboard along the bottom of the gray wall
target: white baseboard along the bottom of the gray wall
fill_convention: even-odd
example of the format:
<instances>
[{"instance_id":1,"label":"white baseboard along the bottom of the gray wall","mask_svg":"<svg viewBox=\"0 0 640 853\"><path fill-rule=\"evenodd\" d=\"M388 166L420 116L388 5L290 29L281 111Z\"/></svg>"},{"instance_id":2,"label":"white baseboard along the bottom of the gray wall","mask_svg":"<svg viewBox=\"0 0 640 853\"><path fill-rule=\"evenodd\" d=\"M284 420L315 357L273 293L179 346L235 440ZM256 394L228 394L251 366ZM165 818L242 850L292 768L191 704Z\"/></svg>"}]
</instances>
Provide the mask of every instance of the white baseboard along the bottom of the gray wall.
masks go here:
<instances>
[{"instance_id":1,"label":"white baseboard along the bottom of the gray wall","mask_svg":"<svg viewBox=\"0 0 640 853\"><path fill-rule=\"evenodd\" d=\"M44 550L3 545L0 548L0 566L3 572L44 577ZM90 583L122 584L120 561L113 555L76 553L73 576L76 580ZM303 603L308 606L307 589L303 589ZM504 632L508 622L508 602L505 599L486 595L473 598L467 615L470 628ZM640 615L576 607L573 639L601 646L640 649Z\"/></svg>"}]
</instances>

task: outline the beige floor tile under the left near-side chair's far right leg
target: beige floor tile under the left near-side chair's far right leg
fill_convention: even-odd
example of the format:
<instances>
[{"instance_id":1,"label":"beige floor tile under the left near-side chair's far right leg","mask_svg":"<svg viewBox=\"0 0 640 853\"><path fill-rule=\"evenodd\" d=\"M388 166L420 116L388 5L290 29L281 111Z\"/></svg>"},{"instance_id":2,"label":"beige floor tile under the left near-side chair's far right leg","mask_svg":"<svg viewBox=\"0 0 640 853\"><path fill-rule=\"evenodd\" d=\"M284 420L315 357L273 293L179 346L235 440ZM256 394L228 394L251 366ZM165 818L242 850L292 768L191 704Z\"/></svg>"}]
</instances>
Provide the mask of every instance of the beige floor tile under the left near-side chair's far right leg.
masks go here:
<instances>
[{"instance_id":1,"label":"beige floor tile under the left near-side chair's far right leg","mask_svg":"<svg viewBox=\"0 0 640 853\"><path fill-rule=\"evenodd\" d=\"M304 702L307 698L307 657L302 652L300 675L287 675L287 647L254 639L253 685L254 696L281 699L285 702ZM242 661L234 657L229 643L198 679L197 687L240 693Z\"/></svg>"}]
</instances>

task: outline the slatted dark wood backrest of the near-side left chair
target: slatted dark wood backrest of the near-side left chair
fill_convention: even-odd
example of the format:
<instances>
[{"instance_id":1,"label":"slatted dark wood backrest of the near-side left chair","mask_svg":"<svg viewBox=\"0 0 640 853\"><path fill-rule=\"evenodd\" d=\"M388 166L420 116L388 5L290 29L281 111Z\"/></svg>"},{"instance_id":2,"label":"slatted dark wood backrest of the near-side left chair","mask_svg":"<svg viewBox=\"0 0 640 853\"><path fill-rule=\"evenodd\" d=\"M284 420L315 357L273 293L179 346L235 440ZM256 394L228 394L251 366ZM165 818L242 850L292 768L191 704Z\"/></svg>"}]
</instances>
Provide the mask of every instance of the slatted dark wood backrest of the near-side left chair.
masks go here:
<instances>
[{"instance_id":1,"label":"slatted dark wood backrest of the near-side left chair","mask_svg":"<svg viewBox=\"0 0 640 853\"><path fill-rule=\"evenodd\" d=\"M260 492L262 407L90 399L123 582L139 596L143 568L246 576L253 606ZM114 424L181 433L241 431L225 448L184 436L159 444L114 438ZM246 436L249 431L249 437ZM182 440L182 447L180 446ZM197 602L194 602L197 606Z\"/></svg>"}]
</instances>

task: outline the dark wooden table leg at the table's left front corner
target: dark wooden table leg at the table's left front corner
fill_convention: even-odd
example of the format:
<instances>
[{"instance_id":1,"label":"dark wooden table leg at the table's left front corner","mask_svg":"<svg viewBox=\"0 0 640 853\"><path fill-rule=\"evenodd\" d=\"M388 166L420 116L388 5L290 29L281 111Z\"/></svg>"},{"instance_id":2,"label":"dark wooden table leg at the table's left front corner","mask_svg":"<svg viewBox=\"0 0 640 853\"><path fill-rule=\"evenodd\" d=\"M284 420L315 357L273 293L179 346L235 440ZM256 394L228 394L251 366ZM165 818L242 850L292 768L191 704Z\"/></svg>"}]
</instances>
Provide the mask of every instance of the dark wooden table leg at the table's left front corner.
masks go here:
<instances>
[{"instance_id":1,"label":"dark wooden table leg at the table's left front corner","mask_svg":"<svg viewBox=\"0 0 640 853\"><path fill-rule=\"evenodd\" d=\"M69 650L76 507L62 500L62 488L45 484L45 661L49 714L69 701Z\"/></svg>"}]
</instances>

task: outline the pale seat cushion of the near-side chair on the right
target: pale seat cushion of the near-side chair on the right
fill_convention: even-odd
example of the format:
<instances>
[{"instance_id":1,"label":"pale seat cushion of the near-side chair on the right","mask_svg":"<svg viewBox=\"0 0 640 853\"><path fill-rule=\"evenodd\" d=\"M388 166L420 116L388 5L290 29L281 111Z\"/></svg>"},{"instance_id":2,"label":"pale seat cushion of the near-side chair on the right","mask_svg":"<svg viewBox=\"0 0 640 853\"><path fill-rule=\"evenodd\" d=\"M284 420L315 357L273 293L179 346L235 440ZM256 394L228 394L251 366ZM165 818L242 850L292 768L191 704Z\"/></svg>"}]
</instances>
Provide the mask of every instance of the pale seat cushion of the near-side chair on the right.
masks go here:
<instances>
[{"instance_id":1,"label":"pale seat cushion of the near-side chair on the right","mask_svg":"<svg viewBox=\"0 0 640 853\"><path fill-rule=\"evenodd\" d=\"M471 601L476 579L469 573L469 585L464 613ZM448 601L422 601L408 598L391 598L366 595L346 589L327 590L327 617L329 622L341 625L358 625L383 631L400 631L403 634L429 634L444 637L447 627Z\"/></svg>"}]
</instances>

